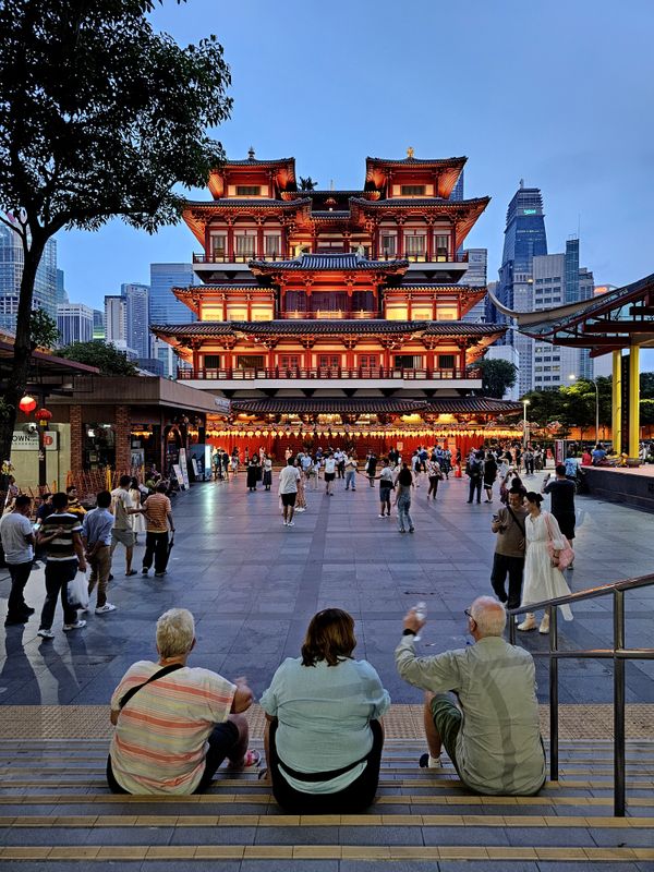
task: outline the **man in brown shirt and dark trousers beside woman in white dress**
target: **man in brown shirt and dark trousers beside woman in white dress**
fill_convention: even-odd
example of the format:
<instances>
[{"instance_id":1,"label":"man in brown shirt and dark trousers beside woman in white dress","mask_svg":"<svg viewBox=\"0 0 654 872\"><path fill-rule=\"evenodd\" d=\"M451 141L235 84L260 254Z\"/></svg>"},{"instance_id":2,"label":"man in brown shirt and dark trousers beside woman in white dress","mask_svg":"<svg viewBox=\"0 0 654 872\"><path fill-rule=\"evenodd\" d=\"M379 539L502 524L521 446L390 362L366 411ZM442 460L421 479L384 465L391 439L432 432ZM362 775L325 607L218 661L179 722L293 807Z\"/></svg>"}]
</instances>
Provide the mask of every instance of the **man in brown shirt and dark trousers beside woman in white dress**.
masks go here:
<instances>
[{"instance_id":1,"label":"man in brown shirt and dark trousers beside woman in white dress","mask_svg":"<svg viewBox=\"0 0 654 872\"><path fill-rule=\"evenodd\" d=\"M517 487L509 493L508 506L493 516L491 530L497 534L491 584L500 603L507 608L518 608L522 594L524 553L526 548L525 523L529 512L524 508L524 492ZM509 577L509 591L506 580Z\"/></svg>"}]
</instances>

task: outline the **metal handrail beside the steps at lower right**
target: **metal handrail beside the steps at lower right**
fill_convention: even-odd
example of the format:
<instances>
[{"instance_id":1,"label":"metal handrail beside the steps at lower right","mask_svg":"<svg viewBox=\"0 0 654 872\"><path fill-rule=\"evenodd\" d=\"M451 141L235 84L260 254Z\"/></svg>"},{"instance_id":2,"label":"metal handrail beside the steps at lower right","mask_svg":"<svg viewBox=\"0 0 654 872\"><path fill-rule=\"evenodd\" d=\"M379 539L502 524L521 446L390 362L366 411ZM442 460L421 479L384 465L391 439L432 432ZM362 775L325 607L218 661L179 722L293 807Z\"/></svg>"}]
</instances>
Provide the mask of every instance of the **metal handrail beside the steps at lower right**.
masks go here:
<instances>
[{"instance_id":1,"label":"metal handrail beside the steps at lower right","mask_svg":"<svg viewBox=\"0 0 654 872\"><path fill-rule=\"evenodd\" d=\"M543 600L540 603L511 608L509 615L509 642L516 644L516 615L549 608L549 652L532 652L534 657L549 659L549 778L558 782L558 664L561 659L613 659L614 662L614 815L625 816L626 796L626 748L625 748L625 663L635 659L654 659L654 649L627 649L625 646L625 592L654 584L654 573L625 579L609 584L601 584L588 591L570 593ZM559 651L557 606L581 603L613 595L614 602L614 644L611 649L582 649Z\"/></svg>"}]
</instances>

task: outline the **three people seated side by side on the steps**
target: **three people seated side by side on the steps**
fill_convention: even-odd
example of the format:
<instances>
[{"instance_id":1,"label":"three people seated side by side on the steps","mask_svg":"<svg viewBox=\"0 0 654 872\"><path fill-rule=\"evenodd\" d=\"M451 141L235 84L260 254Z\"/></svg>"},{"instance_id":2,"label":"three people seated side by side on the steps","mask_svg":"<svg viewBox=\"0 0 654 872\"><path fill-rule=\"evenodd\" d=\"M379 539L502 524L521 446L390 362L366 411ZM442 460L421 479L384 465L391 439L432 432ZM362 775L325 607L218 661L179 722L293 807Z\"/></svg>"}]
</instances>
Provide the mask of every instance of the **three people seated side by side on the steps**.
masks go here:
<instances>
[{"instance_id":1,"label":"three people seated side by side on the steps","mask_svg":"<svg viewBox=\"0 0 654 872\"><path fill-rule=\"evenodd\" d=\"M506 611L497 600L475 600L465 619L474 644L432 657L414 650L425 620L414 609L403 620L396 666L424 691L428 751L419 763L439 768L445 747L471 790L534 795L546 777L534 662L502 638ZM257 768L261 754L249 750L243 717L254 701L245 678L187 665L195 626L185 609L161 615L156 643L158 661L135 663L111 697L111 790L187 795L205 790L226 759L232 770ZM319 611L300 656L287 658L262 694L264 784L287 812L356 813L375 799L390 694L374 666L354 659L355 646L351 615Z\"/></svg>"}]
</instances>

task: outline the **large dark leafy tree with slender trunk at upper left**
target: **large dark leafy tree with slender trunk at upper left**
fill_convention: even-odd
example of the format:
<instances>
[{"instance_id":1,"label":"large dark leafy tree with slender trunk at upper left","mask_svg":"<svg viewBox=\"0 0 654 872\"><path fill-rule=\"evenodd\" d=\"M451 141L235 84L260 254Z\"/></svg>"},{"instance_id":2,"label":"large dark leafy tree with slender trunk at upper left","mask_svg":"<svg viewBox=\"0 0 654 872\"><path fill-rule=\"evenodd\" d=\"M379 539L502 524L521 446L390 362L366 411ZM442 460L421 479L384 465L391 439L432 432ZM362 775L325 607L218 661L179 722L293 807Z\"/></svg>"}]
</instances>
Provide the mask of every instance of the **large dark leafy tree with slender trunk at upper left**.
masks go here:
<instances>
[{"instance_id":1,"label":"large dark leafy tree with slender trunk at upper left","mask_svg":"<svg viewBox=\"0 0 654 872\"><path fill-rule=\"evenodd\" d=\"M179 220L178 185L206 183L225 159L207 128L229 117L222 48L156 34L154 0L1 0L0 221L24 268L14 361L0 419L9 457L29 372L31 312L46 242L121 217L154 233Z\"/></svg>"}]
</instances>

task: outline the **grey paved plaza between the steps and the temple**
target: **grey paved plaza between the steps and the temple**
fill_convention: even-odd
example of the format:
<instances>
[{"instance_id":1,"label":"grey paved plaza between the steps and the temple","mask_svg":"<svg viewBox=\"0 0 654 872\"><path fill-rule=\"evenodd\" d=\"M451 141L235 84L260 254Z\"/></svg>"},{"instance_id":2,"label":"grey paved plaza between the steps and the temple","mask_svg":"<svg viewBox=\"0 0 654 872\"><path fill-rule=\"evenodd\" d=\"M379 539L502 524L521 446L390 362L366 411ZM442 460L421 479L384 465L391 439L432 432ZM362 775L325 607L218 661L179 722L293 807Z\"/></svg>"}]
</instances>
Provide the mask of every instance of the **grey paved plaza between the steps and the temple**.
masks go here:
<instances>
[{"instance_id":1,"label":"grey paved plaza between the steps and the temple","mask_svg":"<svg viewBox=\"0 0 654 872\"><path fill-rule=\"evenodd\" d=\"M542 475L526 479L537 489ZM24 628L2 628L4 650L0 702L8 705L99 705L107 703L125 669L154 658L157 617L172 606L195 615L197 646L192 664L226 677L245 675L257 697L281 659L298 656L308 618L338 606L356 620L358 657L375 665L395 703L417 703L420 692L396 675L392 652L401 617L419 600L428 604L428 625L420 643L425 654L467 643L463 609L489 593L495 537L493 505L469 506L467 480L450 479L438 500L426 501L425 482L416 489L412 514L415 534L400 535L395 518L379 519L378 491L359 477L355 493L336 482L329 498L308 492L308 508L295 526L282 526L277 473L272 491L249 494L245 476L229 483L199 483L173 502L177 536L169 572L162 579L124 578L124 550L113 564L110 601L118 610L88 615L84 630L64 634L61 611L56 639L36 635L44 600L43 569L26 590L37 614ZM578 497L577 564L568 573L572 590L651 572L654 568L652 516ZM134 567L140 570L143 545ZM0 571L4 618L9 580ZM651 645L654 589L627 600L627 644ZM610 600L595 600L574 610L561 626L564 647L605 647L613 632ZM521 634L531 650L545 651L547 639ZM606 703L611 699L607 662L564 662L562 703ZM547 674L538 664L540 698ZM654 702L654 665L627 665L627 702Z\"/></svg>"}]
</instances>

